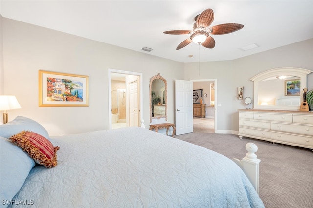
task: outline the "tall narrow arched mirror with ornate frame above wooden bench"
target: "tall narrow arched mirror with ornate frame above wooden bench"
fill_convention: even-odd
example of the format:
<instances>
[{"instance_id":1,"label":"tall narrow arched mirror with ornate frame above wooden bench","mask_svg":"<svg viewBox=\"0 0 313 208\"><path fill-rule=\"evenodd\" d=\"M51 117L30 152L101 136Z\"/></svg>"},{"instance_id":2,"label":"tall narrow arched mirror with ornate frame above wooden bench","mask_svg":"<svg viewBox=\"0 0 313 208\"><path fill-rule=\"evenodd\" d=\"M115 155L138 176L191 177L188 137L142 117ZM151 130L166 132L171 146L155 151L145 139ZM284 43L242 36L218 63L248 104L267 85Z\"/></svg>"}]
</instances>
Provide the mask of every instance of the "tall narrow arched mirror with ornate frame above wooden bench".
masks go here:
<instances>
[{"instance_id":1,"label":"tall narrow arched mirror with ornate frame above wooden bench","mask_svg":"<svg viewBox=\"0 0 313 208\"><path fill-rule=\"evenodd\" d=\"M167 81L158 73L150 78L150 122L152 119L167 120Z\"/></svg>"}]
</instances>

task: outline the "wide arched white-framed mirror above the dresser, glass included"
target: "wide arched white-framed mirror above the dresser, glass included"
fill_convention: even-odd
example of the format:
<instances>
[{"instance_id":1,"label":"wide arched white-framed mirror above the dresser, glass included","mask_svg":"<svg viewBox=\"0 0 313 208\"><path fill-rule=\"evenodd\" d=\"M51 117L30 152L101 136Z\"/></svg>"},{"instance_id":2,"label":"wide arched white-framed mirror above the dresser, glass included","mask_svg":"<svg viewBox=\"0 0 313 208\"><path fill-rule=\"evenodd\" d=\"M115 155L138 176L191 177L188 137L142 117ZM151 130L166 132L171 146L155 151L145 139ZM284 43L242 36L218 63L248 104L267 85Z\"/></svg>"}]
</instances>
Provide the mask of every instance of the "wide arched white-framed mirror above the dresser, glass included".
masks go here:
<instances>
[{"instance_id":1,"label":"wide arched white-framed mirror above the dresser, glass included","mask_svg":"<svg viewBox=\"0 0 313 208\"><path fill-rule=\"evenodd\" d=\"M312 71L284 67L264 71L250 80L254 82L253 109L299 110L307 75Z\"/></svg>"}]
</instances>

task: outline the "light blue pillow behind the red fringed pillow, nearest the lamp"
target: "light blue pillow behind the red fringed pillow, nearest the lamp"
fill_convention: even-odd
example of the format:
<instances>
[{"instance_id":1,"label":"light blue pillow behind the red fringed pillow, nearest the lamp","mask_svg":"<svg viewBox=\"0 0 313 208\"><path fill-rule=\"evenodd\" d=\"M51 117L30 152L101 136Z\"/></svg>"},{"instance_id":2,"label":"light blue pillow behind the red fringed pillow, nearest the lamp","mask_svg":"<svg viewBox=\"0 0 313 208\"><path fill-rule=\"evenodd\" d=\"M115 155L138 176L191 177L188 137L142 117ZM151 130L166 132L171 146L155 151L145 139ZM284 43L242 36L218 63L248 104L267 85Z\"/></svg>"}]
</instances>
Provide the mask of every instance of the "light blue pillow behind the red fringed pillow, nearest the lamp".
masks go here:
<instances>
[{"instance_id":1,"label":"light blue pillow behind the red fringed pillow, nearest the lamp","mask_svg":"<svg viewBox=\"0 0 313 208\"><path fill-rule=\"evenodd\" d=\"M42 125L23 116L18 116L13 121L0 125L1 137L9 139L11 136L20 133L21 131L31 131L40 134L47 139L49 138L48 132Z\"/></svg>"}]
</instances>

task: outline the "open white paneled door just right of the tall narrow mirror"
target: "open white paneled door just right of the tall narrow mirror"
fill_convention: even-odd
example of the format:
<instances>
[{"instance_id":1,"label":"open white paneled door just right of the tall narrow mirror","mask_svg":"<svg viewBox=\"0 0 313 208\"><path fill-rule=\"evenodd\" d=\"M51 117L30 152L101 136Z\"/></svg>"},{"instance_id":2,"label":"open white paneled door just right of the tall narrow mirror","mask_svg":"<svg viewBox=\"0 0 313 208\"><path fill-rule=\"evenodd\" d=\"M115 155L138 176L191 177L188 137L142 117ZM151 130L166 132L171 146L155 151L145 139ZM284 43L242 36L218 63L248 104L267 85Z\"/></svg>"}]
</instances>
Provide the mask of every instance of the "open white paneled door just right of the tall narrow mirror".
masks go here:
<instances>
[{"instance_id":1,"label":"open white paneled door just right of the tall narrow mirror","mask_svg":"<svg viewBox=\"0 0 313 208\"><path fill-rule=\"evenodd\" d=\"M175 80L176 135L193 132L192 81Z\"/></svg>"}]
</instances>

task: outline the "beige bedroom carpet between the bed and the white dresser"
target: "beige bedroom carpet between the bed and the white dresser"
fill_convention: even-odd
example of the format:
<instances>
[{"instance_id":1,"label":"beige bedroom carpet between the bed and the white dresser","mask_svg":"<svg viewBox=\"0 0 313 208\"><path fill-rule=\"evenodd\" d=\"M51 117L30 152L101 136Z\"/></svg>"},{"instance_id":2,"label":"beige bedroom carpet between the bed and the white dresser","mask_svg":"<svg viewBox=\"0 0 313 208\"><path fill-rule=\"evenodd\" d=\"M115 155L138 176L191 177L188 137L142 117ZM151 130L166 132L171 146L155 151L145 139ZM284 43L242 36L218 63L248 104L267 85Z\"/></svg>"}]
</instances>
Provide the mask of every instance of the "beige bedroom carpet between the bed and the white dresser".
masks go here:
<instances>
[{"instance_id":1,"label":"beige bedroom carpet between the bed and the white dresser","mask_svg":"<svg viewBox=\"0 0 313 208\"><path fill-rule=\"evenodd\" d=\"M176 136L228 158L246 156L253 142L260 163L260 197L266 208L313 208L313 152L295 146L243 138L233 134L190 133Z\"/></svg>"}]
</instances>

